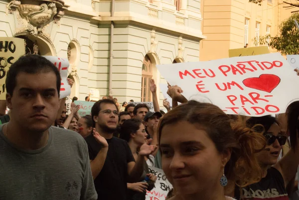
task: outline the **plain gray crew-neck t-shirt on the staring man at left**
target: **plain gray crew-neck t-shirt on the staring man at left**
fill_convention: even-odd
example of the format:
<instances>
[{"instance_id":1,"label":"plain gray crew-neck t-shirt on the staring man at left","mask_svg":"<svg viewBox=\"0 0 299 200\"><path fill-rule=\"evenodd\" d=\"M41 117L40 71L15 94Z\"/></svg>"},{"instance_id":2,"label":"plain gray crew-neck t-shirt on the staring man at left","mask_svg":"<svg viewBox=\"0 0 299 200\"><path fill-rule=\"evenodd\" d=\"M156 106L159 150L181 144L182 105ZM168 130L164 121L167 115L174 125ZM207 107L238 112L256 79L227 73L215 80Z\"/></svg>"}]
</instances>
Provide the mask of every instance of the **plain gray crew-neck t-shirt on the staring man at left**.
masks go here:
<instances>
[{"instance_id":1,"label":"plain gray crew-neck t-shirt on the staring man at left","mask_svg":"<svg viewBox=\"0 0 299 200\"><path fill-rule=\"evenodd\" d=\"M6 139L2 127L0 200L97 200L81 135L52 126L46 146L24 151Z\"/></svg>"}]
</instances>

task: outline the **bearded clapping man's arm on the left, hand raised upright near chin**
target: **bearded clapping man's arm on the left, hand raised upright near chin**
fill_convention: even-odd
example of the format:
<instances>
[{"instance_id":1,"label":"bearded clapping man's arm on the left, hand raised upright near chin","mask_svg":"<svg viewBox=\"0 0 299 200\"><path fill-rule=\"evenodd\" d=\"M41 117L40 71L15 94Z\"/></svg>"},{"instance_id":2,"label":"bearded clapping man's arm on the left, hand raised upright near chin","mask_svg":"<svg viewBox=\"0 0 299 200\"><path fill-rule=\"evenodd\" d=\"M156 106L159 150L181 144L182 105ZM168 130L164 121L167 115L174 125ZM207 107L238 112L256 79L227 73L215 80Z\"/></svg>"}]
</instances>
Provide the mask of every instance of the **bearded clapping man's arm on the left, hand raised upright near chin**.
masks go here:
<instances>
[{"instance_id":1,"label":"bearded clapping man's arm on the left, hand raised upright near chin","mask_svg":"<svg viewBox=\"0 0 299 200\"><path fill-rule=\"evenodd\" d=\"M104 163L106 161L107 152L108 152L108 143L105 138L103 138L96 130L93 130L93 135L95 139L102 145L101 150L97 154L96 158L94 160L90 161L90 167L91 167L91 173L92 177L95 180L97 176L100 174L100 172L103 169Z\"/></svg>"}]
</instances>

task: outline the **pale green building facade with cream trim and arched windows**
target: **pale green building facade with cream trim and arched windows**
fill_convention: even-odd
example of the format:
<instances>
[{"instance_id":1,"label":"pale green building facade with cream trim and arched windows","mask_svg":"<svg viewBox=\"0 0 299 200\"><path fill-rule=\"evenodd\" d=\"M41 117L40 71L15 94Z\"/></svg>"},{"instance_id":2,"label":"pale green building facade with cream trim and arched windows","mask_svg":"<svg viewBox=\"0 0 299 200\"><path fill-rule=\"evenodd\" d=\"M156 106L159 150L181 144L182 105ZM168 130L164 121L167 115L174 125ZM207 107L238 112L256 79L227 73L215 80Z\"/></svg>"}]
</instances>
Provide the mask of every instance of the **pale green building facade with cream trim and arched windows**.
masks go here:
<instances>
[{"instance_id":1,"label":"pale green building facade with cream trim and arched windows","mask_svg":"<svg viewBox=\"0 0 299 200\"><path fill-rule=\"evenodd\" d=\"M99 89L119 102L151 101L150 78L162 100L155 66L199 61L201 23L200 0L0 0L0 37L68 58L79 100Z\"/></svg>"}]
</instances>

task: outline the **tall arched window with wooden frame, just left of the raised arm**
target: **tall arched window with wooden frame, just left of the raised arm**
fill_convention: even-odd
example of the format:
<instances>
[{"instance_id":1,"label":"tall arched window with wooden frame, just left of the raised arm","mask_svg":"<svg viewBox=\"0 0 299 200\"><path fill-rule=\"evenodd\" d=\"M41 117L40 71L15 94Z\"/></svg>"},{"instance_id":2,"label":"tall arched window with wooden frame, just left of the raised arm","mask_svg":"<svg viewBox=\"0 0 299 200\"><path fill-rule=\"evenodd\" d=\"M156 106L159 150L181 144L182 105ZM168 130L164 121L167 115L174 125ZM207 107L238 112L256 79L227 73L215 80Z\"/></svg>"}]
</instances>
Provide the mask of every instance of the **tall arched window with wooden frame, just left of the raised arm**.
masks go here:
<instances>
[{"instance_id":1,"label":"tall arched window with wooden frame, just left of the raised arm","mask_svg":"<svg viewBox=\"0 0 299 200\"><path fill-rule=\"evenodd\" d=\"M148 55L144 58L142 64L142 81L141 81L141 101L150 102L151 92L149 89L149 80L152 78L151 61Z\"/></svg>"}]
</instances>

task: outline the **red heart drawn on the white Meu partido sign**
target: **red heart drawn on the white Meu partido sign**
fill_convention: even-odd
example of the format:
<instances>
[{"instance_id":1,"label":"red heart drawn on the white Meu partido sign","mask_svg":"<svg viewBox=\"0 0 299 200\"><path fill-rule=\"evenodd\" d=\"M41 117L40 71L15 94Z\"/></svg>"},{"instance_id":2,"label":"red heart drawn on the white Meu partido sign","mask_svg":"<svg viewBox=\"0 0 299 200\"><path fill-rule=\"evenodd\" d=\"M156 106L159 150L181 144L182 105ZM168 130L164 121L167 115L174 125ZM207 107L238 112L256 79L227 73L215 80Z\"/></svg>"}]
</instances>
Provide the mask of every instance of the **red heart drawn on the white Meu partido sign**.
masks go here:
<instances>
[{"instance_id":1,"label":"red heart drawn on the white Meu partido sign","mask_svg":"<svg viewBox=\"0 0 299 200\"><path fill-rule=\"evenodd\" d=\"M280 83L281 79L274 74L262 74L258 78L246 78L243 84L246 87L271 93Z\"/></svg>"}]
</instances>

